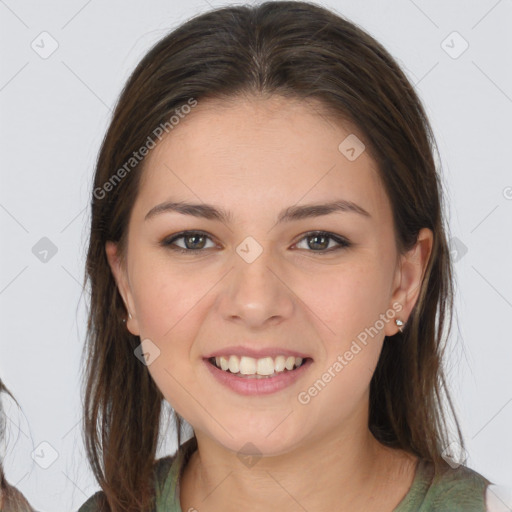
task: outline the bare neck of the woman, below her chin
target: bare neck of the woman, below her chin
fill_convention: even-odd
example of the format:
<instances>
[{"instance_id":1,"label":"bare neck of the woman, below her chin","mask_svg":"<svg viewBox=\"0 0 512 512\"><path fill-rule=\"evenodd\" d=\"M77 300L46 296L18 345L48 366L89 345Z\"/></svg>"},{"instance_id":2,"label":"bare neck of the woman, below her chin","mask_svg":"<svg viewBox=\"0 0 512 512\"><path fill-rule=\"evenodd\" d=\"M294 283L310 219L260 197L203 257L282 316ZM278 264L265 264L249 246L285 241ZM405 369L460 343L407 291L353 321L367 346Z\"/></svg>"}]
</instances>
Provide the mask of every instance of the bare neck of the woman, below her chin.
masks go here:
<instances>
[{"instance_id":1,"label":"bare neck of the woman, below her chin","mask_svg":"<svg viewBox=\"0 0 512 512\"><path fill-rule=\"evenodd\" d=\"M182 510L278 509L369 512L389 510L407 492L415 458L382 446L369 430L318 436L251 467L211 438L197 435L198 450L181 483ZM291 470L291 468L293 468ZM411 471L412 470L412 471ZM397 485L401 481L401 485ZM390 485L392 484L392 485Z\"/></svg>"}]
</instances>

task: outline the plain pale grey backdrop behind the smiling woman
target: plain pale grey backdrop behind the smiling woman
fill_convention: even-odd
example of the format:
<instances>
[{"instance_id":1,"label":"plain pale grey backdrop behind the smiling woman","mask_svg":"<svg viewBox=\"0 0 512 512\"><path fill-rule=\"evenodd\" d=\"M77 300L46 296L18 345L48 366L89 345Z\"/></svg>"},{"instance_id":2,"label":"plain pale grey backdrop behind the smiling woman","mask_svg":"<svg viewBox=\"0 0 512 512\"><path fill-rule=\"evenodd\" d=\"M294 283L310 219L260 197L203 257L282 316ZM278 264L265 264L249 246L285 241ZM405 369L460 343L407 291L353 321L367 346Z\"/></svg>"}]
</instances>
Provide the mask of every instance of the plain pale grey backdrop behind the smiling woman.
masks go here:
<instances>
[{"instance_id":1,"label":"plain pale grey backdrop behind the smiling woman","mask_svg":"<svg viewBox=\"0 0 512 512\"><path fill-rule=\"evenodd\" d=\"M154 42L221 5L0 0L0 375L21 405L5 400L3 449L8 480L38 510L76 509L97 489L79 426L81 282L92 172L111 108ZM511 485L512 2L323 5L397 58L430 116L457 259L459 328L447 371L467 465ZM160 455L174 448L169 432Z\"/></svg>"}]
</instances>

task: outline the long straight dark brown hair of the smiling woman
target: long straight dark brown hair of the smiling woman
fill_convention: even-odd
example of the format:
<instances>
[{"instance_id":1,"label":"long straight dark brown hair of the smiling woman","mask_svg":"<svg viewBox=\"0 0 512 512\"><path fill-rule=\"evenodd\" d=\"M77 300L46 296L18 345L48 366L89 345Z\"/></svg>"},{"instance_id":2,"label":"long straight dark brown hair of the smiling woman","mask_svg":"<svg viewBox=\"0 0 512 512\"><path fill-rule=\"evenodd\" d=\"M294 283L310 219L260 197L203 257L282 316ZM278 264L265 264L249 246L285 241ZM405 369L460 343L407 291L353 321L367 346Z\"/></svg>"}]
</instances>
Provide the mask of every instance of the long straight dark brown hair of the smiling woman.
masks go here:
<instances>
[{"instance_id":1,"label":"long straight dark brown hair of the smiling woman","mask_svg":"<svg viewBox=\"0 0 512 512\"><path fill-rule=\"evenodd\" d=\"M432 230L415 307L404 332L384 341L370 386L369 428L383 444L433 461L437 470L449 444L447 399L464 447L442 368L453 284L437 147L413 86L375 39L318 5L224 7L192 18L145 55L120 95L96 164L85 276L91 295L84 431L104 510L145 511L154 504L164 400L134 356L140 339L122 321L125 306L105 254L108 240L119 243L121 255L126 249L144 168L143 159L133 163L134 151L191 98L244 94L319 100L333 118L352 122L378 164L399 252L414 246L421 228ZM176 421L179 446L177 415Z\"/></svg>"}]
</instances>

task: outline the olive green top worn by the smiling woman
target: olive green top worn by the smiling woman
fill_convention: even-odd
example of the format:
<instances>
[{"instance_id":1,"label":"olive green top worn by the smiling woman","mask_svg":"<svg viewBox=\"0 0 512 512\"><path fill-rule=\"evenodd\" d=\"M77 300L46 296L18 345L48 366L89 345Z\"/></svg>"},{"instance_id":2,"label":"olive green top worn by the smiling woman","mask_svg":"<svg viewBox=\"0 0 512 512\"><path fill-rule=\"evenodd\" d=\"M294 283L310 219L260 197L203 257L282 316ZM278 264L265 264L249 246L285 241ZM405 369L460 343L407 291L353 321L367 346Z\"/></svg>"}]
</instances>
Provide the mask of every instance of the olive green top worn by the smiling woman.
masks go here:
<instances>
[{"instance_id":1,"label":"olive green top worn by the smiling woman","mask_svg":"<svg viewBox=\"0 0 512 512\"><path fill-rule=\"evenodd\" d=\"M195 437L185 442L174 456L158 459L155 464L156 509L153 512L183 512L179 498L179 477L190 456L197 449ZM485 512L485 491L490 482L466 466L448 467L434 479L434 466L418 461L412 485L393 512ZM91 496L78 512L96 512Z\"/></svg>"}]
</instances>

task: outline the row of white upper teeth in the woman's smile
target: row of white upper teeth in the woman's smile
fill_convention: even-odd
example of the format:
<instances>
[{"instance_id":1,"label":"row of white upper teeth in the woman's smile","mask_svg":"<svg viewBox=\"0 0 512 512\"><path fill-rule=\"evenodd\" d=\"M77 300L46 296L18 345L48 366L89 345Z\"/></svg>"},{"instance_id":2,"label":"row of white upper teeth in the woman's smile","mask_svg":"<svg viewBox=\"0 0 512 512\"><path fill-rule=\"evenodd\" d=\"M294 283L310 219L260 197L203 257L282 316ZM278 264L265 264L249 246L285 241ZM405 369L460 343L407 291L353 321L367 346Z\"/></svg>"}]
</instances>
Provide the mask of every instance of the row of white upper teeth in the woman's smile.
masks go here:
<instances>
[{"instance_id":1,"label":"row of white upper teeth in the woman's smile","mask_svg":"<svg viewBox=\"0 0 512 512\"><path fill-rule=\"evenodd\" d=\"M285 369L290 371L298 368L303 362L302 357L277 356L254 359L247 356L220 356L215 357L215 365L223 371L240 373L242 375L273 375L281 373Z\"/></svg>"}]
</instances>

